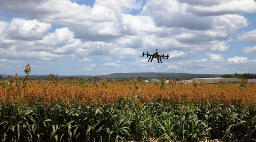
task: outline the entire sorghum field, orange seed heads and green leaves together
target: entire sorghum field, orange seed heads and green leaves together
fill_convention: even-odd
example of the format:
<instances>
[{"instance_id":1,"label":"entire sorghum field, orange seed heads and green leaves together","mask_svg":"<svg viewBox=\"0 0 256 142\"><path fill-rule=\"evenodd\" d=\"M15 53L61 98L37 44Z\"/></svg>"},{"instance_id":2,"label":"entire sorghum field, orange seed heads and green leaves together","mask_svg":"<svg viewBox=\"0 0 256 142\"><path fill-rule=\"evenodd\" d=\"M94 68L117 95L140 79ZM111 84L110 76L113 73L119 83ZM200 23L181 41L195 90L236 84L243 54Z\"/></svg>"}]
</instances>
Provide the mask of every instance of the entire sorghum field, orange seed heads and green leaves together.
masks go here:
<instances>
[{"instance_id":1,"label":"entire sorghum field, orange seed heads and green leaves together","mask_svg":"<svg viewBox=\"0 0 256 142\"><path fill-rule=\"evenodd\" d=\"M256 88L246 80L158 84L136 78L124 82L26 78L2 80L1 141L256 138Z\"/></svg>"}]
</instances>

